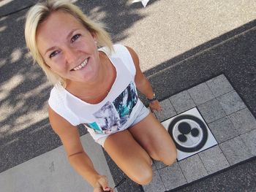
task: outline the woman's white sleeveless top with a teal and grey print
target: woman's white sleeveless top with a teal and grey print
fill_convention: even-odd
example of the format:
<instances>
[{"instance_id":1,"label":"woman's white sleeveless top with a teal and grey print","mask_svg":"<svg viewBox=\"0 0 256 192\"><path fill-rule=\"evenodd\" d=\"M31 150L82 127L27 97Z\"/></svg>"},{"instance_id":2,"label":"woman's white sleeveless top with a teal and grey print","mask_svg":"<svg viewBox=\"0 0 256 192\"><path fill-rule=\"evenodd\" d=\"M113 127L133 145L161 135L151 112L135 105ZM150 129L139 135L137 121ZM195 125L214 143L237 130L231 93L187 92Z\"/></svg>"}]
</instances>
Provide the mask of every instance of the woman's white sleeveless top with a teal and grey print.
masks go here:
<instances>
[{"instance_id":1,"label":"woman's white sleeveless top with a teal and grey print","mask_svg":"<svg viewBox=\"0 0 256 192\"><path fill-rule=\"evenodd\" d=\"M116 80L108 95L98 104L89 104L69 93L60 85L50 91L49 105L73 126L83 124L97 141L106 134L128 128L139 115L141 104L135 85L135 64L127 47L114 45L115 52L107 54L116 68ZM100 86L100 85L99 85Z\"/></svg>"}]
</instances>

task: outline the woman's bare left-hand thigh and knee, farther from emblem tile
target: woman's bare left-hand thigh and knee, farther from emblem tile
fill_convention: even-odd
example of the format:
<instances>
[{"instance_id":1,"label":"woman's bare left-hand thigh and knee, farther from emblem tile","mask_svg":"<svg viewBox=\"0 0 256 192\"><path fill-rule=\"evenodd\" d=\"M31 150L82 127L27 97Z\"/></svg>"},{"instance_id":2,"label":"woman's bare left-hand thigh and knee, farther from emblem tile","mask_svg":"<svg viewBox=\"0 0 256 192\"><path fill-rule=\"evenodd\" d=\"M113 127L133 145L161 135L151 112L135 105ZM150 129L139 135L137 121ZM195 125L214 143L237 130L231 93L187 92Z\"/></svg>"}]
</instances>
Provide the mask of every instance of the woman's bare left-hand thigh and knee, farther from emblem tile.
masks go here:
<instances>
[{"instance_id":1,"label":"woman's bare left-hand thigh and knee, farther from emblem tile","mask_svg":"<svg viewBox=\"0 0 256 192\"><path fill-rule=\"evenodd\" d=\"M104 148L130 179L139 184L146 184L151 181L151 158L128 130L111 134L105 140Z\"/></svg>"}]
</instances>

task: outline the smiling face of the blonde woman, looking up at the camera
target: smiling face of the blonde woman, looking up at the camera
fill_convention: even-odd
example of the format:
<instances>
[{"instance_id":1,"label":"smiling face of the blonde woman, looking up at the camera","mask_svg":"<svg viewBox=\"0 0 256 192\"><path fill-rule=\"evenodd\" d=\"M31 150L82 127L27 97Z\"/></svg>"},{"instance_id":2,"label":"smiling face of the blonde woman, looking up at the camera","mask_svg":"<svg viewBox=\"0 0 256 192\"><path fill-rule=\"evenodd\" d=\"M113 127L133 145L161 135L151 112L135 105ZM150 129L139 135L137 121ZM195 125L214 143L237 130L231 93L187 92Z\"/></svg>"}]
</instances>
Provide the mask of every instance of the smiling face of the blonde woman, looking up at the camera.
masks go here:
<instances>
[{"instance_id":1,"label":"smiling face of the blonde woman, looking up at the camera","mask_svg":"<svg viewBox=\"0 0 256 192\"><path fill-rule=\"evenodd\" d=\"M52 12L37 28L37 47L50 70L68 82L92 82L99 73L94 34L67 12Z\"/></svg>"}]
</instances>

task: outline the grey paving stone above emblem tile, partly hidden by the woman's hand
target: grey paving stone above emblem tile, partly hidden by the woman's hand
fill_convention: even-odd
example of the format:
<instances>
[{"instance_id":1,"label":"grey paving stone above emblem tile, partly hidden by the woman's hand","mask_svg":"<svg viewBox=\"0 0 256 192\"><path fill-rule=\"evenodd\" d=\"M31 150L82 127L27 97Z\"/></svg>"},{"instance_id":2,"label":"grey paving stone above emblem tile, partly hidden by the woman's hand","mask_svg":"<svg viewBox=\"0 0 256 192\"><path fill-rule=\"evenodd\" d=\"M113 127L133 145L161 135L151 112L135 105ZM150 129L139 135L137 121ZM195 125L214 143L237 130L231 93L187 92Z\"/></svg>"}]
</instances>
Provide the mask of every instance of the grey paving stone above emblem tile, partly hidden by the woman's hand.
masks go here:
<instances>
[{"instance_id":1,"label":"grey paving stone above emblem tile, partly hidden by the woman's hand","mask_svg":"<svg viewBox=\"0 0 256 192\"><path fill-rule=\"evenodd\" d=\"M160 105L162 107L162 111L154 112L160 122L163 120L167 120L168 118L172 118L176 115L176 111L174 110L173 105L170 103L169 99L161 101Z\"/></svg>"}]
</instances>

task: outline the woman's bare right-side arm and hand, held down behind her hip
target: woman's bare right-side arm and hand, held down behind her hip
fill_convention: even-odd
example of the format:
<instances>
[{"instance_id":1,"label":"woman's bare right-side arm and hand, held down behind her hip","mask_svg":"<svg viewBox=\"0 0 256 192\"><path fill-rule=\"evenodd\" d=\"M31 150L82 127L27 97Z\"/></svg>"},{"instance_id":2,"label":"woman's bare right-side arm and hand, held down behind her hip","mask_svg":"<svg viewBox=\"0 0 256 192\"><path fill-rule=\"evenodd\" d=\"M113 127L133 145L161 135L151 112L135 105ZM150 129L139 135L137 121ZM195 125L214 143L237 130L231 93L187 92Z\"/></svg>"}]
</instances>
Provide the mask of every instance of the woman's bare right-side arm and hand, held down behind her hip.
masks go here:
<instances>
[{"instance_id":1,"label":"woman's bare right-side arm and hand, held down behind her hip","mask_svg":"<svg viewBox=\"0 0 256 192\"><path fill-rule=\"evenodd\" d=\"M129 53L132 55L132 60L136 68L136 74L135 74L136 87L141 93L143 93L143 95L146 96L146 98L152 99L154 97L154 91L148 79L145 77L143 72L141 72L138 55L137 53L135 53L134 50L132 50L131 47L127 47L127 49L129 50ZM157 100L150 102L149 107L151 108L151 110L157 110L157 111L161 110L159 101Z\"/></svg>"}]
</instances>

